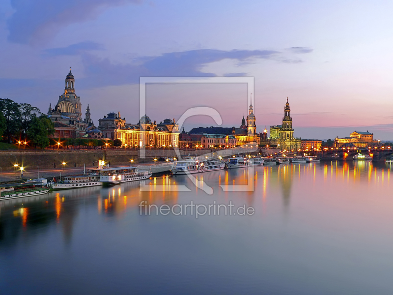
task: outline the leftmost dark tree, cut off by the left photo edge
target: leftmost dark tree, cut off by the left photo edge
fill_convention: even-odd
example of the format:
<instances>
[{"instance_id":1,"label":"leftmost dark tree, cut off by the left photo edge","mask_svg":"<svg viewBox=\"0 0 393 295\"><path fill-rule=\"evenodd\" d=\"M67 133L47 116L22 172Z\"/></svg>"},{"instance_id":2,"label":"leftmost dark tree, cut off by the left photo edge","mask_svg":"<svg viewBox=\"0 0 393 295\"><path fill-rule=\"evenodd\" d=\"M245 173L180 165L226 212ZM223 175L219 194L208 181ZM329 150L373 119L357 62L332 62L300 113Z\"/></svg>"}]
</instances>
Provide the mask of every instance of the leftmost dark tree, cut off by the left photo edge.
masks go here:
<instances>
[{"instance_id":1,"label":"leftmost dark tree, cut off by the left photo edge","mask_svg":"<svg viewBox=\"0 0 393 295\"><path fill-rule=\"evenodd\" d=\"M8 98L0 98L0 112L5 118L5 132L7 142L10 144L13 137L20 133L22 119L19 104Z\"/></svg>"}]
</instances>

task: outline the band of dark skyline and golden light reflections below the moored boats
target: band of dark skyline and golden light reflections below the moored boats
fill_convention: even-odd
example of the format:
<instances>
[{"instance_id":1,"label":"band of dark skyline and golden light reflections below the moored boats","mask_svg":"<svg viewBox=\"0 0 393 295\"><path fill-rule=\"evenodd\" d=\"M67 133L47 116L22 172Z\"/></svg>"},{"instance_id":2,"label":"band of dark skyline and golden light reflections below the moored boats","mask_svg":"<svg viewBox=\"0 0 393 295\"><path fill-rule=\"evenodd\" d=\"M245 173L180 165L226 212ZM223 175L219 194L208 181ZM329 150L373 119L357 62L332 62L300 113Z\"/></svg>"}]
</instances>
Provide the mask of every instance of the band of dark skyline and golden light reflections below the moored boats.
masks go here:
<instances>
[{"instance_id":1,"label":"band of dark skyline and golden light reflections below the moored boats","mask_svg":"<svg viewBox=\"0 0 393 295\"><path fill-rule=\"evenodd\" d=\"M272 186L272 189L279 187L283 206L288 207L294 179L299 181L305 178L309 181L308 185L322 181L351 184L368 182L369 185L386 186L390 184L390 173L390 164L375 165L369 161L260 166L254 169L255 190L243 192L238 197L251 206L254 199L259 198L259 193L263 200L268 197L269 186ZM233 193L223 192L220 185L247 185L248 170L214 171L196 175L196 178L200 184L206 182L214 188L213 196L224 195L227 199ZM156 205L176 204L179 192L171 190L171 186L186 185L196 196L204 194L185 176L152 177L146 185L161 185L164 189L142 192L139 190L139 182L131 182L109 188L91 187L3 201L0 203L0 242L9 243L26 228L45 230L51 223L61 223L64 238L69 240L72 236L73 219L78 215L81 205L95 204L98 214L116 216L122 215L129 208L137 207L141 201ZM307 187L304 189L307 191Z\"/></svg>"}]
</instances>

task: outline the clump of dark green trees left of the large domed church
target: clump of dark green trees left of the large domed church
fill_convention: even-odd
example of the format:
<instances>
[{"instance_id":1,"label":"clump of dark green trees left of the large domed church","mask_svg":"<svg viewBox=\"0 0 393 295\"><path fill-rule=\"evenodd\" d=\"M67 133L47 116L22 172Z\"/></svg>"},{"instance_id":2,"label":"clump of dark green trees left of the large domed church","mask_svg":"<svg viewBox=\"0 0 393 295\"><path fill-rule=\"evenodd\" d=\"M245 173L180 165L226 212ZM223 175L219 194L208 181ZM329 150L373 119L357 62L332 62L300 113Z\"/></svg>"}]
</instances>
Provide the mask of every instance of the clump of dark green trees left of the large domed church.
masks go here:
<instances>
[{"instance_id":1,"label":"clump of dark green trees left of the large domed church","mask_svg":"<svg viewBox=\"0 0 393 295\"><path fill-rule=\"evenodd\" d=\"M50 118L28 103L17 103L0 98L0 139L8 144L26 141L34 148L49 146L49 137L55 133Z\"/></svg>"}]
</instances>

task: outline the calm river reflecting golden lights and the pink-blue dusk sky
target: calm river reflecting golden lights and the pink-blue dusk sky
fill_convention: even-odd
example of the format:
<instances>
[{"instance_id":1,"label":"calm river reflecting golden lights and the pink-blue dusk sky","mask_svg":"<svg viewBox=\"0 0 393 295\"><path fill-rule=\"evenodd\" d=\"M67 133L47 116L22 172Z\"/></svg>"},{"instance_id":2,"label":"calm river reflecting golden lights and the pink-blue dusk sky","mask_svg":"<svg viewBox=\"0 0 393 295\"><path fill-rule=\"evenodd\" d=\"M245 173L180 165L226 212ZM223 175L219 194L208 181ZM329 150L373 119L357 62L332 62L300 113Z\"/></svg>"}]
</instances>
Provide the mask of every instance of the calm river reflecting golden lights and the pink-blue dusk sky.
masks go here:
<instances>
[{"instance_id":1,"label":"calm river reflecting golden lights and the pink-blue dusk sky","mask_svg":"<svg viewBox=\"0 0 393 295\"><path fill-rule=\"evenodd\" d=\"M198 175L211 195L165 176L145 182L163 191L132 182L0 202L0 294L393 294L387 164L261 166L253 191L220 187L247 173ZM255 212L148 215L142 201Z\"/></svg>"}]
</instances>

